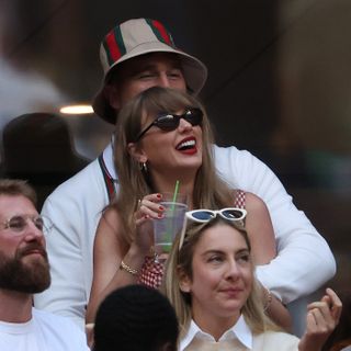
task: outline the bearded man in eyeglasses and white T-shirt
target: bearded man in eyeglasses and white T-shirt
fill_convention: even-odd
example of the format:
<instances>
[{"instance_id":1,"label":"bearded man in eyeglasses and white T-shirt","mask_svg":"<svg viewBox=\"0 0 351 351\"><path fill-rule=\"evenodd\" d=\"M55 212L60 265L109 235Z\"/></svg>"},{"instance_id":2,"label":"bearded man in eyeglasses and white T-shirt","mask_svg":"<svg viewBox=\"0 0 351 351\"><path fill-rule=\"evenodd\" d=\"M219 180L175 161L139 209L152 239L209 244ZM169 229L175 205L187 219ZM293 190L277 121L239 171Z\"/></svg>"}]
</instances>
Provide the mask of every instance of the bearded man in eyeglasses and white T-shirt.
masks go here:
<instances>
[{"instance_id":1,"label":"bearded man in eyeglasses and white T-shirt","mask_svg":"<svg viewBox=\"0 0 351 351\"><path fill-rule=\"evenodd\" d=\"M88 351L86 335L69 319L32 307L50 284L44 233L34 190L0 180L0 350Z\"/></svg>"}]
</instances>

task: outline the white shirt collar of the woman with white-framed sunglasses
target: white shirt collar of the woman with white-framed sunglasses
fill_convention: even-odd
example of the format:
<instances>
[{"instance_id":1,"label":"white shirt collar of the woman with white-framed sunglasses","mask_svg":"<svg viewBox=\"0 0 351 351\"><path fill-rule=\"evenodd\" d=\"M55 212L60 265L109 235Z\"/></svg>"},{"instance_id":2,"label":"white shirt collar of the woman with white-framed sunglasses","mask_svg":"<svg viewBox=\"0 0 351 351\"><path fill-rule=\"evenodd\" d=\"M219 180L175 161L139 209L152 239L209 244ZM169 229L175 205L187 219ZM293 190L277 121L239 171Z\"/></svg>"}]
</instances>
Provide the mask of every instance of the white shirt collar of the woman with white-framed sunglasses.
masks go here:
<instances>
[{"instance_id":1,"label":"white shirt collar of the woman with white-framed sunglasses","mask_svg":"<svg viewBox=\"0 0 351 351\"><path fill-rule=\"evenodd\" d=\"M179 350L183 351L196 336L205 340L215 340L213 336L202 331L194 320L192 320L185 337L180 341ZM224 332L224 335L219 338L219 341L234 338L237 338L249 350L252 349L252 332L245 321L242 315L230 329Z\"/></svg>"}]
</instances>

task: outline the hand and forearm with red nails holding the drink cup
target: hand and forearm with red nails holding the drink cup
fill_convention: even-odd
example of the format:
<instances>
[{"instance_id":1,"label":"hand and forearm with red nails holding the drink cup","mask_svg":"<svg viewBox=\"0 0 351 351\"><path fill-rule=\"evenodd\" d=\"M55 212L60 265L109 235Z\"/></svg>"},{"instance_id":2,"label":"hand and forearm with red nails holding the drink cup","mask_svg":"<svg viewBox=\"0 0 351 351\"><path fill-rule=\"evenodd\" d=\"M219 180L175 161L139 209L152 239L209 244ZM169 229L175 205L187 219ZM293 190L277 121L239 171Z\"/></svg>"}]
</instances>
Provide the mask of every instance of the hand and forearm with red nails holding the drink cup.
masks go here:
<instances>
[{"instance_id":1,"label":"hand and forearm with red nails holding the drink cup","mask_svg":"<svg viewBox=\"0 0 351 351\"><path fill-rule=\"evenodd\" d=\"M161 218L165 208L159 205L162 196L159 193L149 194L139 200L135 213L136 235L133 242L143 252L148 252L154 245L154 218Z\"/></svg>"}]
</instances>

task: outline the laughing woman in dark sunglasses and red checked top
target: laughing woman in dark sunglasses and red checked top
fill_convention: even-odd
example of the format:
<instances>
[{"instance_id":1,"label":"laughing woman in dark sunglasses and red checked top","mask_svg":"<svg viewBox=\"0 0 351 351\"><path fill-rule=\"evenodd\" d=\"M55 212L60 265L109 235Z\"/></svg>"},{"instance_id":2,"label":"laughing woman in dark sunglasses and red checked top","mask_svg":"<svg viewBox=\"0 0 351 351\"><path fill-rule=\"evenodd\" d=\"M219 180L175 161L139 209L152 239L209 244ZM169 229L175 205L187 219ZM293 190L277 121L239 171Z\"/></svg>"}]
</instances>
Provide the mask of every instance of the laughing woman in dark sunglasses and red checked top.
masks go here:
<instances>
[{"instance_id":1,"label":"laughing woman in dark sunglasses and red checked top","mask_svg":"<svg viewBox=\"0 0 351 351\"><path fill-rule=\"evenodd\" d=\"M162 265L155 262L151 250L152 220L163 215L161 193L173 192L177 181L191 210L244 202L256 263L269 263L275 256L263 201L229 189L216 174L211 125L194 97L159 87L146 90L121 110L115 131L114 160L121 186L98 226L88 322L93 321L102 298L116 287L136 282L159 285ZM262 296L268 303L272 298L264 290ZM283 320L288 327L287 313Z\"/></svg>"}]
</instances>

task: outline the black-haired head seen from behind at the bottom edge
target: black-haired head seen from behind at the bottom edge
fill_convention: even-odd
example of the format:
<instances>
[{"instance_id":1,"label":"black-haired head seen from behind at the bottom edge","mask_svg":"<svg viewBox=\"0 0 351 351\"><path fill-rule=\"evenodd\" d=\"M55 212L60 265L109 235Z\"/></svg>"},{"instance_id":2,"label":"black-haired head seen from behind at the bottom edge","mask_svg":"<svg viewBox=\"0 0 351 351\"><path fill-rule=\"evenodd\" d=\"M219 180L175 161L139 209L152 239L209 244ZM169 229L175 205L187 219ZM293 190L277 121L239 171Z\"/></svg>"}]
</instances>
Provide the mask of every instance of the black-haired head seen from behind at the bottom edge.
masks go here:
<instances>
[{"instance_id":1,"label":"black-haired head seen from behind at the bottom edge","mask_svg":"<svg viewBox=\"0 0 351 351\"><path fill-rule=\"evenodd\" d=\"M176 351L177 339L174 309L156 290L118 288L98 309L94 351Z\"/></svg>"}]
</instances>

